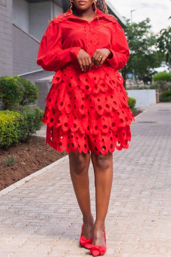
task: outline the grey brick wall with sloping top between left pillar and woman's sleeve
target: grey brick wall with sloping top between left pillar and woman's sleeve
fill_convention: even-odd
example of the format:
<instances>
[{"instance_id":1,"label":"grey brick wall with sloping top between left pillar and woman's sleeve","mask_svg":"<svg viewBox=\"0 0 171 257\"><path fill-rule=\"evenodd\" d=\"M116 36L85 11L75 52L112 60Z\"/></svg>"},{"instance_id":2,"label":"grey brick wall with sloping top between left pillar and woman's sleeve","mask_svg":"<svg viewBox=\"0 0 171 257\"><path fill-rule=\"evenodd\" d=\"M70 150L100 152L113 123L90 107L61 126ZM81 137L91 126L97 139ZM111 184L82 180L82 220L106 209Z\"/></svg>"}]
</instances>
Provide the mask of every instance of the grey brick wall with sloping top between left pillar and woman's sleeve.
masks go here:
<instances>
[{"instance_id":1,"label":"grey brick wall with sloping top between left pillar and woman's sleeve","mask_svg":"<svg viewBox=\"0 0 171 257\"><path fill-rule=\"evenodd\" d=\"M39 41L13 25L13 75L42 69L37 65Z\"/></svg>"}]
</instances>

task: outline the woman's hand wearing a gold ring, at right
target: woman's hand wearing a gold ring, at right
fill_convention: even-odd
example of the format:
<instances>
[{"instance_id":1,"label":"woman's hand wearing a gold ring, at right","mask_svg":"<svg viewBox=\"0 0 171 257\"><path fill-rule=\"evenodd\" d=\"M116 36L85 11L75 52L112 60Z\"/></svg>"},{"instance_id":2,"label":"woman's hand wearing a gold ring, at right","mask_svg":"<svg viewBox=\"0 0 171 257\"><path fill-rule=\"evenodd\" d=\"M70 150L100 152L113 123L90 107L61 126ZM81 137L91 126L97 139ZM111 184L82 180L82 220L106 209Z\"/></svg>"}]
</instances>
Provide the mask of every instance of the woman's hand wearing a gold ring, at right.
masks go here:
<instances>
[{"instance_id":1,"label":"woman's hand wearing a gold ring, at right","mask_svg":"<svg viewBox=\"0 0 171 257\"><path fill-rule=\"evenodd\" d=\"M101 66L107 57L110 58L111 51L108 48L96 49L93 53L92 63L98 67Z\"/></svg>"}]
</instances>

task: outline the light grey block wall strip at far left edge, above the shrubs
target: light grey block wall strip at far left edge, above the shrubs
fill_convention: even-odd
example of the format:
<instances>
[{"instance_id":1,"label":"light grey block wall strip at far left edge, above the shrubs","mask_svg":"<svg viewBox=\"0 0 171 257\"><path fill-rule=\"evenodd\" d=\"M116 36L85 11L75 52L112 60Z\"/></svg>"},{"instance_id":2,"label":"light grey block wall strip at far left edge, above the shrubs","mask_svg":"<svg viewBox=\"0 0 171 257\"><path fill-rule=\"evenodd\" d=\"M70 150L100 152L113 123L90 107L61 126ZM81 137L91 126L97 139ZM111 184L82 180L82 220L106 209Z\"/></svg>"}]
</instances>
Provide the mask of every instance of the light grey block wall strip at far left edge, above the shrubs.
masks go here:
<instances>
[{"instance_id":1,"label":"light grey block wall strip at far left edge, above the shrubs","mask_svg":"<svg viewBox=\"0 0 171 257\"><path fill-rule=\"evenodd\" d=\"M0 0L0 76L13 74L12 0Z\"/></svg>"}]
</instances>

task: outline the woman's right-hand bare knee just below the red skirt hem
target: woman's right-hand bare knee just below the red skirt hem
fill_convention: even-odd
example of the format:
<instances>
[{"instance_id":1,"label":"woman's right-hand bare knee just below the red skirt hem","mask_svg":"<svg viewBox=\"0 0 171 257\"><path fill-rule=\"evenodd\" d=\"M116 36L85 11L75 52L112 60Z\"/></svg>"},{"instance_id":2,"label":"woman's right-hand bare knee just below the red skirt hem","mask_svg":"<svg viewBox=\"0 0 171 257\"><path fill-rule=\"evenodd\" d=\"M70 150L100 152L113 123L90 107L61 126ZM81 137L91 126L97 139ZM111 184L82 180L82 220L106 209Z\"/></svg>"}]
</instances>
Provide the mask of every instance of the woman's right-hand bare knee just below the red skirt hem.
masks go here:
<instances>
[{"instance_id":1,"label":"woman's right-hand bare knee just below the red skirt hem","mask_svg":"<svg viewBox=\"0 0 171 257\"><path fill-rule=\"evenodd\" d=\"M99 155L91 154L91 160L101 170L107 170L113 166L112 153L110 152L105 155L101 153Z\"/></svg>"}]
</instances>

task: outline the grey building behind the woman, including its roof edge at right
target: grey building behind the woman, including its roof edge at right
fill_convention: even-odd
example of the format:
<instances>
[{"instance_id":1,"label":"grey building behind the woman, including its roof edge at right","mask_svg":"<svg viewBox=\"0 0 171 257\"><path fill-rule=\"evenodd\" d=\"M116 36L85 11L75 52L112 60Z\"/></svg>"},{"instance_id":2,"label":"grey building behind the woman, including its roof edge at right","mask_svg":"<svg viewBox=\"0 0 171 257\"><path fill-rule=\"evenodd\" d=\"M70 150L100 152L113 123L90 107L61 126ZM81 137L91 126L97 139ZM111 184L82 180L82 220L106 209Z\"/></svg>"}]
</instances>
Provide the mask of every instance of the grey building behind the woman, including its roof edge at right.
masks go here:
<instances>
[{"instance_id":1,"label":"grey building behind the woman, including its roof edge at right","mask_svg":"<svg viewBox=\"0 0 171 257\"><path fill-rule=\"evenodd\" d=\"M125 27L125 20L110 1L106 2L109 13ZM35 83L41 109L54 72L36 64L40 40L48 20L66 12L68 5L69 0L0 0L0 76L19 75Z\"/></svg>"}]
</instances>

